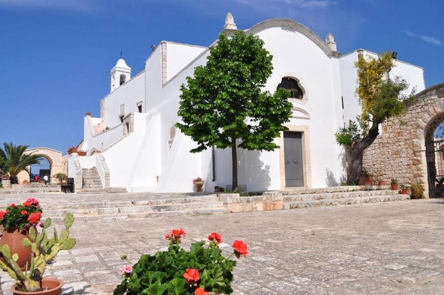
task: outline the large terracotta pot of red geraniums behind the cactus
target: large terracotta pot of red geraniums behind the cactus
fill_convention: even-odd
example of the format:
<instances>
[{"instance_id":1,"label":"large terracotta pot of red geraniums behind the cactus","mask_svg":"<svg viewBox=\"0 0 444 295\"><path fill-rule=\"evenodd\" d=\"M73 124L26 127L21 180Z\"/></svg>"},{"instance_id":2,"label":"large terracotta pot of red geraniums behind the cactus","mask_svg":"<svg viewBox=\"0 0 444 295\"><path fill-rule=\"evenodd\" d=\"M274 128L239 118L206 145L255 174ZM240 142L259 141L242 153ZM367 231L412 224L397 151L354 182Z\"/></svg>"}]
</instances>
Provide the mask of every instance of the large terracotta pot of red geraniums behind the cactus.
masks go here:
<instances>
[{"instance_id":1,"label":"large terracotta pot of red geraniums behind the cactus","mask_svg":"<svg viewBox=\"0 0 444 295\"><path fill-rule=\"evenodd\" d=\"M11 253L17 253L19 258L17 264L24 268L26 262L28 262L28 267L31 266L31 247L25 247L22 245L23 238L30 238L28 231L20 231L16 227L8 228L3 231L3 235L0 238L0 245L8 245L11 249Z\"/></svg>"}]
</instances>

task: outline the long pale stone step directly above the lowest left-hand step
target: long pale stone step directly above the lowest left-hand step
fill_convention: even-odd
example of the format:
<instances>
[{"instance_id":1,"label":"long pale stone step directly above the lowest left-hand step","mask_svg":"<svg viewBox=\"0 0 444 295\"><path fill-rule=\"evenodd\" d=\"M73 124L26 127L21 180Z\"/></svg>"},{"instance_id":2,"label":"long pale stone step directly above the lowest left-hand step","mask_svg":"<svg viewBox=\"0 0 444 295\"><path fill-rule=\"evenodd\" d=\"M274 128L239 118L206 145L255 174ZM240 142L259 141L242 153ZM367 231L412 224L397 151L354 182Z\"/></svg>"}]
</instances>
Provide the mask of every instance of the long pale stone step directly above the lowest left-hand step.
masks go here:
<instances>
[{"instance_id":1,"label":"long pale stone step directly above the lowest left-hand step","mask_svg":"<svg viewBox=\"0 0 444 295\"><path fill-rule=\"evenodd\" d=\"M223 202L192 202L177 203L167 205L152 206L123 206L123 207L104 207L104 208L84 208L84 209L61 209L61 210L45 210L45 215L51 217L65 216L67 213L80 215L103 215L103 214L134 214L134 213L150 213L164 211L184 211L205 208L222 208Z\"/></svg>"}]
</instances>

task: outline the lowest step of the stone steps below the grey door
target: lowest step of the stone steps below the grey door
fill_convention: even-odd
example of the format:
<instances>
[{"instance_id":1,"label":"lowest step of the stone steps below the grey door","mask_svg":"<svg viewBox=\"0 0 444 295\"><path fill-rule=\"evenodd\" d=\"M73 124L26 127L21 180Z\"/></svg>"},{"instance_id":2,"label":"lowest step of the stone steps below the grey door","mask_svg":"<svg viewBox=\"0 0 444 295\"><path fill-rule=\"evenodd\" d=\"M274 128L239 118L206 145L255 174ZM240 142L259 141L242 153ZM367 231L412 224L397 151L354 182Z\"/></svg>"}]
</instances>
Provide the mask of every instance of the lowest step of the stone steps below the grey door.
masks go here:
<instances>
[{"instance_id":1,"label":"lowest step of the stone steps below the grey door","mask_svg":"<svg viewBox=\"0 0 444 295\"><path fill-rule=\"evenodd\" d=\"M284 209L309 208L318 206L332 206L332 205L352 205L361 203L377 203L377 202L391 202L403 201L410 199L410 195L391 194L380 196L365 196L352 198L334 198L334 199L320 199L307 201L284 202Z\"/></svg>"}]
</instances>

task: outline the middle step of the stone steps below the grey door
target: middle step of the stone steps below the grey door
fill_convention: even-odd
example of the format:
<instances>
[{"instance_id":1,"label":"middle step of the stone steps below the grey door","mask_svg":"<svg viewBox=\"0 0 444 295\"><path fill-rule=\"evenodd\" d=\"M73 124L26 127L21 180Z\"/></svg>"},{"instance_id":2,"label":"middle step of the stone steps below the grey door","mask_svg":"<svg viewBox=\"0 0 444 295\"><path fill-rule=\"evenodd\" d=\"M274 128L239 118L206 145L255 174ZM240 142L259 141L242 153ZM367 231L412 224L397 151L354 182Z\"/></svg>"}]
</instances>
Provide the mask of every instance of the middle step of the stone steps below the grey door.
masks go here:
<instances>
[{"instance_id":1,"label":"middle step of the stone steps below the grey door","mask_svg":"<svg viewBox=\"0 0 444 295\"><path fill-rule=\"evenodd\" d=\"M284 195L284 202L336 199L336 198L354 198L354 197L393 195L393 194L398 194L398 191L387 189L387 190L356 190L356 191L344 191L344 192L306 193L298 195Z\"/></svg>"}]
</instances>

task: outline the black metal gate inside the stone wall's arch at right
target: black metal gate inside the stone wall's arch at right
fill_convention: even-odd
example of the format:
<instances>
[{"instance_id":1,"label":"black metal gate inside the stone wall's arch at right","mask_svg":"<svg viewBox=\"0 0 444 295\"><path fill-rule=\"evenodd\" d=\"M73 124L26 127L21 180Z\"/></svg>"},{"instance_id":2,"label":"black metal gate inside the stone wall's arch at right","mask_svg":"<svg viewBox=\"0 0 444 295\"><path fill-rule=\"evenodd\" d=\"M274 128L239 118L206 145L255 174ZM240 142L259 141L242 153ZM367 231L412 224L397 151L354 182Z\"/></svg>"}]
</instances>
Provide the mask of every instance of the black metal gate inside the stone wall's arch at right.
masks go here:
<instances>
[{"instance_id":1,"label":"black metal gate inside the stone wall's arch at right","mask_svg":"<svg viewBox=\"0 0 444 295\"><path fill-rule=\"evenodd\" d=\"M426 159L429 196L441 198L444 196L444 140L426 143Z\"/></svg>"}]
</instances>

